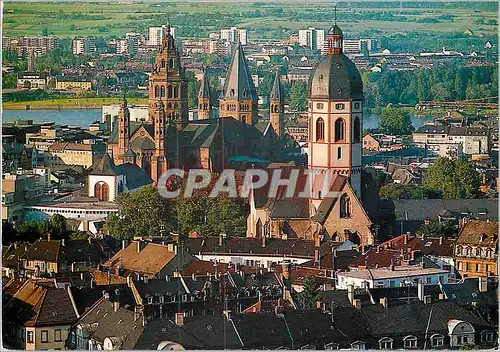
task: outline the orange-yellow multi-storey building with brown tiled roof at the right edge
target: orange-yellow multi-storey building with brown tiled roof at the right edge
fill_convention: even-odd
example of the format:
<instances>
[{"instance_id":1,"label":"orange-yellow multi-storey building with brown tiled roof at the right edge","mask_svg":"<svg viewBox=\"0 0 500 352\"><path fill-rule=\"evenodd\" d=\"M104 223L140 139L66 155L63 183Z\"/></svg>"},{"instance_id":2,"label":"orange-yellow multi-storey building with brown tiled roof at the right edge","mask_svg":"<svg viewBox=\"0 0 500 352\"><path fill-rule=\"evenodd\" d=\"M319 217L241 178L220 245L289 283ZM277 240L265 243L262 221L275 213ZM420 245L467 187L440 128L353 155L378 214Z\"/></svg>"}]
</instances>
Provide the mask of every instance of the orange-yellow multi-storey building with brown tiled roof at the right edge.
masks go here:
<instances>
[{"instance_id":1,"label":"orange-yellow multi-storey building with brown tiled roof at the right edge","mask_svg":"<svg viewBox=\"0 0 500 352\"><path fill-rule=\"evenodd\" d=\"M498 275L497 253L498 222L469 221L460 230L455 257L462 277Z\"/></svg>"}]
</instances>

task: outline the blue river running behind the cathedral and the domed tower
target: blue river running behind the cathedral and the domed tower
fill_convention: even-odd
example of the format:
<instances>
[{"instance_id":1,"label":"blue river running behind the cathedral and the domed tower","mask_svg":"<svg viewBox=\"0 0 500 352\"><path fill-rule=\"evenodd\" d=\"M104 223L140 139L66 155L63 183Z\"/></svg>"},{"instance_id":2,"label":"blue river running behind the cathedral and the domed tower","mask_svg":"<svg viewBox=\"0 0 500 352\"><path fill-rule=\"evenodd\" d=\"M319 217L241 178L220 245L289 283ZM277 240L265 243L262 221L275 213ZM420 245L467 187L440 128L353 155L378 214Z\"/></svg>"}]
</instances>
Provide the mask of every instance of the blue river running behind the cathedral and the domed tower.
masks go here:
<instances>
[{"instance_id":1,"label":"blue river running behind the cathedral and the domed tower","mask_svg":"<svg viewBox=\"0 0 500 352\"><path fill-rule=\"evenodd\" d=\"M3 110L2 121L16 121L19 119L33 119L34 122L55 122L57 124L88 127L95 121L100 121L100 109L88 110ZM380 117L377 114L365 114L363 128L376 128ZM411 115L413 127L419 128L432 116Z\"/></svg>"}]
</instances>

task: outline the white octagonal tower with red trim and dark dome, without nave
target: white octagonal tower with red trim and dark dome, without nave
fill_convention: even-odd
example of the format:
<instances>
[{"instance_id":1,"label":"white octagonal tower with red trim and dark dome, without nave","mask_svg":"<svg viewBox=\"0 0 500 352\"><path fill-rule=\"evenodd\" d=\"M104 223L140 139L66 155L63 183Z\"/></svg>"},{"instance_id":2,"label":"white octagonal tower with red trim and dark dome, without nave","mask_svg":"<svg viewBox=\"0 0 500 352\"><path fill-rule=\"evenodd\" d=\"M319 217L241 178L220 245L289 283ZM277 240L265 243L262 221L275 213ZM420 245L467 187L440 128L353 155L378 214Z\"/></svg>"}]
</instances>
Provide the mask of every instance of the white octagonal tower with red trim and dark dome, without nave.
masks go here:
<instances>
[{"instance_id":1,"label":"white octagonal tower with red trim and dark dome, without nave","mask_svg":"<svg viewBox=\"0 0 500 352\"><path fill-rule=\"evenodd\" d=\"M342 30L335 24L327 36L326 57L309 80L309 169L348 177L361 196L363 83L354 63L342 52ZM324 198L320 185L311 189L311 213Z\"/></svg>"}]
</instances>

